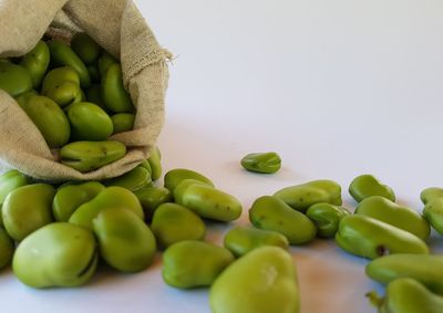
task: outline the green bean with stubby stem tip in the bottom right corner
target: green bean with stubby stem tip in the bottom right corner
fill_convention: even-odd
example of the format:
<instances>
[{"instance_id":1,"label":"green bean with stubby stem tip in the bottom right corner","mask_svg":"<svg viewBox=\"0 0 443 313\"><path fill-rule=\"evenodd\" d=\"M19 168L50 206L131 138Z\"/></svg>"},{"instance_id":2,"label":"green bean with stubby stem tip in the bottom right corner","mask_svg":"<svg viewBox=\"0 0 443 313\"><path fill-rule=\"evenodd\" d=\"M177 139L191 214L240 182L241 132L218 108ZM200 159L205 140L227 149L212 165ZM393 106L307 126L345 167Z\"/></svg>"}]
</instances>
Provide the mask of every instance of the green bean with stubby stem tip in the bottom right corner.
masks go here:
<instances>
[{"instance_id":1,"label":"green bean with stubby stem tip in the bottom right corner","mask_svg":"<svg viewBox=\"0 0 443 313\"><path fill-rule=\"evenodd\" d=\"M374 291L367 296L378 307L379 313L441 313L443 307L442 296L433 294L412 279L391 282L383 298Z\"/></svg>"}]
</instances>

